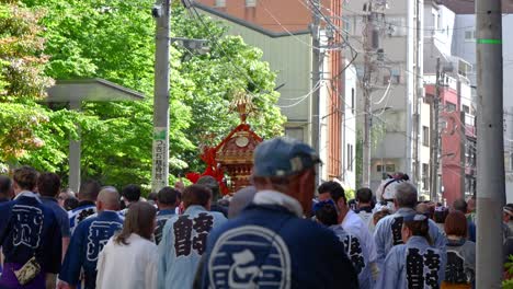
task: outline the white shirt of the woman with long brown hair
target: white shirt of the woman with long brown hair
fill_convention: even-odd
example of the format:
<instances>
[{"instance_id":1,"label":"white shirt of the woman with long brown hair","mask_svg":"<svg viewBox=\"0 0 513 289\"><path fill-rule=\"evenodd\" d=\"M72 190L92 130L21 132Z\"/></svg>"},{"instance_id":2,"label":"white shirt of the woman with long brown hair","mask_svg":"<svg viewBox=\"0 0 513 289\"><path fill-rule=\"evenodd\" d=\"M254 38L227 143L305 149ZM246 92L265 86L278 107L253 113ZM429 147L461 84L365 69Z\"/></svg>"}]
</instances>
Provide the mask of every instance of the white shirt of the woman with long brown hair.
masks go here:
<instances>
[{"instance_id":1,"label":"white shirt of the woman with long brown hair","mask_svg":"<svg viewBox=\"0 0 513 289\"><path fill-rule=\"evenodd\" d=\"M132 234L128 245L111 238L98 257L98 289L157 288L157 245L138 234Z\"/></svg>"}]
</instances>

